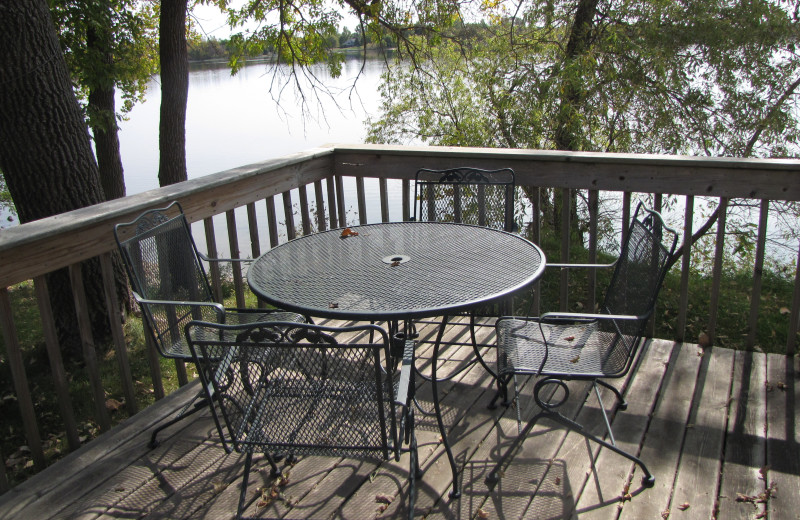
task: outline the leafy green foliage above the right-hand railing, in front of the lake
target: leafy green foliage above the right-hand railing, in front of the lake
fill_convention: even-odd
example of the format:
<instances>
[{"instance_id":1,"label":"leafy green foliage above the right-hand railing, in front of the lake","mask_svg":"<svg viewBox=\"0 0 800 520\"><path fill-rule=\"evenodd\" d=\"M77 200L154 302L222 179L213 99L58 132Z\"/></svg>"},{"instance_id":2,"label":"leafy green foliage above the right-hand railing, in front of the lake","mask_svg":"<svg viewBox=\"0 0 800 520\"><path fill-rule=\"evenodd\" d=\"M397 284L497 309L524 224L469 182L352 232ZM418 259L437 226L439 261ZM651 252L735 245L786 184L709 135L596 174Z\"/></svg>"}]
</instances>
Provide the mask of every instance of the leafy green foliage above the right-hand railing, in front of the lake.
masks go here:
<instances>
[{"instance_id":1,"label":"leafy green foliage above the right-hand railing, in front of the lake","mask_svg":"<svg viewBox=\"0 0 800 520\"><path fill-rule=\"evenodd\" d=\"M581 2L587 3L587 2ZM485 22L386 75L370 140L441 145L794 156L798 21L759 0L484 4ZM577 42L577 43L576 43Z\"/></svg>"}]
</instances>

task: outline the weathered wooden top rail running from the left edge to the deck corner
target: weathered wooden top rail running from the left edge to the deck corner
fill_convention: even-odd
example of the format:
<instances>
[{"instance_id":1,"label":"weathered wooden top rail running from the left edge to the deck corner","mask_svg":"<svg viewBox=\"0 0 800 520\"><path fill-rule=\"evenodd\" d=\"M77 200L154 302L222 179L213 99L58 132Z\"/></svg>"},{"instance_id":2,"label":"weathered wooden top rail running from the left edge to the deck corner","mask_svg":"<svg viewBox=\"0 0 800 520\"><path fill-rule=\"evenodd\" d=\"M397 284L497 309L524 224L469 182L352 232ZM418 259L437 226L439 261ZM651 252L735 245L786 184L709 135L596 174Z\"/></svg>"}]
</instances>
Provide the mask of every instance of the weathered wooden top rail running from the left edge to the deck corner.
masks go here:
<instances>
[{"instance_id":1,"label":"weathered wooden top rail running from the left edge to the deck corner","mask_svg":"<svg viewBox=\"0 0 800 520\"><path fill-rule=\"evenodd\" d=\"M0 287L114 250L114 225L148 209L177 200L190 222L202 220L325 178L332 158L332 148L315 148L5 229Z\"/></svg>"}]
</instances>

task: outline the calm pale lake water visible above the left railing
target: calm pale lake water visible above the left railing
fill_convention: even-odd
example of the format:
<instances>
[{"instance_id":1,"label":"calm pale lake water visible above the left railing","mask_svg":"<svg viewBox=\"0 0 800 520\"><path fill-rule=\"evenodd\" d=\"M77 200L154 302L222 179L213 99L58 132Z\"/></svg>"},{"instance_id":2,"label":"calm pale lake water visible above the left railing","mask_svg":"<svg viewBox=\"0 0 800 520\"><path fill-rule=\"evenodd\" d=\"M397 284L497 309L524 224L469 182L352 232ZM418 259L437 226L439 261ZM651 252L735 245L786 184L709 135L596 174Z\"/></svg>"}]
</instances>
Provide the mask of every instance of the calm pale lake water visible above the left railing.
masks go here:
<instances>
[{"instance_id":1,"label":"calm pale lake water visible above the left railing","mask_svg":"<svg viewBox=\"0 0 800 520\"><path fill-rule=\"evenodd\" d=\"M195 67L189 73L186 116L189 178L327 143L362 143L367 133L364 120L377 112L384 70L381 60L355 57L345 61L339 78L331 78L324 65L313 66L309 71L322 87L313 91L309 77L297 78L304 106L286 66L252 63L235 76L224 64ZM329 93L320 90L323 87ZM160 104L159 78L154 77L146 102L120 123L128 195L158 187Z\"/></svg>"}]
</instances>

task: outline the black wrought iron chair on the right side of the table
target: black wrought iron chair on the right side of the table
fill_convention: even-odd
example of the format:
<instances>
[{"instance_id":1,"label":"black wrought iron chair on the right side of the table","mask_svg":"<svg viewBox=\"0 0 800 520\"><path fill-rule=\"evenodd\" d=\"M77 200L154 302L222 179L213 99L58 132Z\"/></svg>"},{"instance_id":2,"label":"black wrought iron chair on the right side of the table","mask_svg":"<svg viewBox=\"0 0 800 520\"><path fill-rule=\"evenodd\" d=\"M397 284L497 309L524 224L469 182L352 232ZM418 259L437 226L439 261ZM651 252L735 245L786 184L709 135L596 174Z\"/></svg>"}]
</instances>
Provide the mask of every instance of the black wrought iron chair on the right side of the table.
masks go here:
<instances>
[{"instance_id":1,"label":"black wrought iron chair on the right side of the table","mask_svg":"<svg viewBox=\"0 0 800 520\"><path fill-rule=\"evenodd\" d=\"M533 395L541 411L521 429L519 439L523 439L539 419L551 419L635 462L644 472L643 484L653 485L655 479L644 462L616 446L598 385L615 394L618 409L627 407L621 393L604 379L622 377L631 368L677 239L677 233L665 226L661 215L639 204L599 313L553 312L538 318L498 319L497 371L503 386L501 391L505 392L507 385L513 383L514 399L518 401L516 376L540 376ZM570 380L591 382L603 412L608 441L589 433L557 410L569 398L565 381ZM488 480L496 479L497 470Z\"/></svg>"}]
</instances>

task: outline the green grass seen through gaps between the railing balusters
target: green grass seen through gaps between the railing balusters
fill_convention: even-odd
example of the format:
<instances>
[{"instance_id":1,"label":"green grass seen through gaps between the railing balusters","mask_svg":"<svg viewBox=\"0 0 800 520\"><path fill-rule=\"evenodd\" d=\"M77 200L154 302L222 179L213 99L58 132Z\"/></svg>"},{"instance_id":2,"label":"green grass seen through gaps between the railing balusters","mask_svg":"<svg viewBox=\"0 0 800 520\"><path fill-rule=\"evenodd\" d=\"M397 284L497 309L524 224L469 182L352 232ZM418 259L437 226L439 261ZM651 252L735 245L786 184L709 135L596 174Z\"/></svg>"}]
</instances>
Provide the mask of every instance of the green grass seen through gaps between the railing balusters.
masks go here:
<instances>
[{"instance_id":1,"label":"green grass seen through gaps between the railing balusters","mask_svg":"<svg viewBox=\"0 0 800 520\"><path fill-rule=\"evenodd\" d=\"M548 258L558 258L559 243L553 237L545 236L541 241ZM587 252L574 247L571 261L586 261ZM600 255L600 262L613 261L613 256ZM608 283L610 270L598 272L597 300L602 299L602 288ZM554 270L545 273L541 283L542 311L558 308L559 276ZM569 281L570 309L585 310L587 305L587 277L579 271L571 274ZM721 283L720 309L718 313L717 341L722 347L744 349L747 339L747 323L750 313L750 292L752 275L747 271L728 272L723 275ZM697 342L700 334L706 331L708 323L709 295L711 279L704 274L694 274L689 284L689 306L685 340ZM758 331L756 336L757 350L783 353L786 346L789 313L782 309L790 308L792 301L793 280L765 271L761 293ZM235 306L233 287L226 283L224 287L225 303ZM44 339L40 329L39 311L34 297L33 285L30 282L19 284L9 291L14 310L14 323L17 335L23 348L25 370L29 380L29 388L34 399L38 425L45 447L48 464L58 460L69 450L66 444L66 433L58 404L53 398L55 391L50 377L50 365L47 358ZM668 274L664 288L659 296L655 319L655 336L674 339L679 309L680 267L677 265ZM247 306L255 307L254 295L247 293ZM520 308L527 309L523 303ZM128 345L128 357L131 373L136 389L139 409L155 402L150 367L145 352L144 333L141 320L130 316L124 326ZM22 429L22 420L14 391L13 381L5 356L5 345L0 338L0 450L3 462L9 474L11 485L18 484L35 473L30 457L30 450L25 447L26 441ZM113 350L100 358L100 371L103 388L108 399L124 402L118 366ZM177 374L173 361L159 358L165 393L169 394L178 388ZM88 441L100 433L94 419L94 401L85 369L76 363L65 367L69 377L70 396L78 422L82 441ZM189 377L193 375L191 367L187 367ZM128 418L126 408L119 407L111 412L113 424Z\"/></svg>"}]
</instances>

